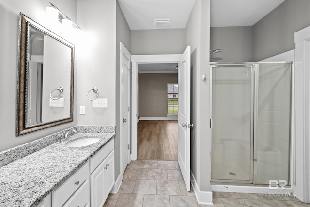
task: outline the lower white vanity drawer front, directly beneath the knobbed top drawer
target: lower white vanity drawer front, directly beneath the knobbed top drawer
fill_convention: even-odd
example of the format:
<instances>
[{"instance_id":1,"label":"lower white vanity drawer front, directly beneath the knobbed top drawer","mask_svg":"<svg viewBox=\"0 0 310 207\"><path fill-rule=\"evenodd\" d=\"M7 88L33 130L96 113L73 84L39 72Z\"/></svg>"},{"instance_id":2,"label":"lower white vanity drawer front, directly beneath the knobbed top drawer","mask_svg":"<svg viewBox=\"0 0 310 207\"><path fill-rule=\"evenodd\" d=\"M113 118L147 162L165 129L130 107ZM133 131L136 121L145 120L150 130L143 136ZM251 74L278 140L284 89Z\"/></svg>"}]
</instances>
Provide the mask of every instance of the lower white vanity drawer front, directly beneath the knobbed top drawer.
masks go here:
<instances>
[{"instance_id":1,"label":"lower white vanity drawer front, directly beneath the knobbed top drawer","mask_svg":"<svg viewBox=\"0 0 310 207\"><path fill-rule=\"evenodd\" d=\"M62 207L90 206L89 180L86 180Z\"/></svg>"}]
</instances>

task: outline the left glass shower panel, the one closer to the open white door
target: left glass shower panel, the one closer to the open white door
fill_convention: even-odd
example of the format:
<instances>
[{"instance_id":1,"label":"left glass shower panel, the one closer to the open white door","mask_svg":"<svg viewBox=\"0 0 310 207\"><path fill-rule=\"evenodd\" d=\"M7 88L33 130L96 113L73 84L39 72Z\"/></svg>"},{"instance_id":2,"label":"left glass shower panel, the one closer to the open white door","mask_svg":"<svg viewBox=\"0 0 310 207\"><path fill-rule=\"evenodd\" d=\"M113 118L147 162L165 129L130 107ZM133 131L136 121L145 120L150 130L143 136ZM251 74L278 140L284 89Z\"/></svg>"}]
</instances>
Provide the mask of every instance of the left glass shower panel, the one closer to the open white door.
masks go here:
<instances>
[{"instance_id":1,"label":"left glass shower panel, the one closer to the open white door","mask_svg":"<svg viewBox=\"0 0 310 207\"><path fill-rule=\"evenodd\" d=\"M253 183L254 64L210 66L211 180Z\"/></svg>"}]
</instances>

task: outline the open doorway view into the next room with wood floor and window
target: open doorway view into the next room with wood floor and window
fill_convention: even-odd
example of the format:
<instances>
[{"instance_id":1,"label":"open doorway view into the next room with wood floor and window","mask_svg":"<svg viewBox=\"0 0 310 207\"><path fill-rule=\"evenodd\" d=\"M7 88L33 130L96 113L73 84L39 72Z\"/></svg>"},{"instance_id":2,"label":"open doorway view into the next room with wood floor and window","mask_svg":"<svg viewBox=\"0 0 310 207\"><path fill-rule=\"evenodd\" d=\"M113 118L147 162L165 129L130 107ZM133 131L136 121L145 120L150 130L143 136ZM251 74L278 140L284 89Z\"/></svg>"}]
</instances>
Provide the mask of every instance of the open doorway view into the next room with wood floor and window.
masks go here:
<instances>
[{"instance_id":1,"label":"open doorway view into the next room with wood floor and window","mask_svg":"<svg viewBox=\"0 0 310 207\"><path fill-rule=\"evenodd\" d=\"M178 63L138 64L138 159L177 161Z\"/></svg>"}]
</instances>

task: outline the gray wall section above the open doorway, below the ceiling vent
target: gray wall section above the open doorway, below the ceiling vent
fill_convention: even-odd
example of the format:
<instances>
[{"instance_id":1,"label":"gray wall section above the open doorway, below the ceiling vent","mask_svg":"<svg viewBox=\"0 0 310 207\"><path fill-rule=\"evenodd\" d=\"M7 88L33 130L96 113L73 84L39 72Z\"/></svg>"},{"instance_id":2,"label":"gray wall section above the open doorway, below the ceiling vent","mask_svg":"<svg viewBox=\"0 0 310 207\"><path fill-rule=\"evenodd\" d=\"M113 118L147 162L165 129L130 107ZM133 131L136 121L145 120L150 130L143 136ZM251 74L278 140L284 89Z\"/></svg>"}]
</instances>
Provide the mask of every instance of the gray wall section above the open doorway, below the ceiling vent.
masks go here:
<instances>
[{"instance_id":1,"label":"gray wall section above the open doorway, below the ceiling vent","mask_svg":"<svg viewBox=\"0 0 310 207\"><path fill-rule=\"evenodd\" d=\"M185 29L131 31L132 55L181 54L185 43Z\"/></svg>"}]
</instances>

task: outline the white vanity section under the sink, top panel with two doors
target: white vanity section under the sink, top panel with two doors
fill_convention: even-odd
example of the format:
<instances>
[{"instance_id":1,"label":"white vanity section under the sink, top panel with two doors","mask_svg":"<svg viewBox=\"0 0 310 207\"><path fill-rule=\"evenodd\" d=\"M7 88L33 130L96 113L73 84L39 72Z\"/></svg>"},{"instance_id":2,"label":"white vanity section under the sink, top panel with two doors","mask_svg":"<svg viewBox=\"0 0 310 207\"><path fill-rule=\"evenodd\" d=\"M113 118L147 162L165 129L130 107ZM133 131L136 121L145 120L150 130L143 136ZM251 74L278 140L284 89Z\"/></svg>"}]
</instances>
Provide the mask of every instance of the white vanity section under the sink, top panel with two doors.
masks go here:
<instances>
[{"instance_id":1,"label":"white vanity section under the sink, top panel with two doors","mask_svg":"<svg viewBox=\"0 0 310 207\"><path fill-rule=\"evenodd\" d=\"M114 139L90 160L91 206L102 207L115 182Z\"/></svg>"}]
</instances>

